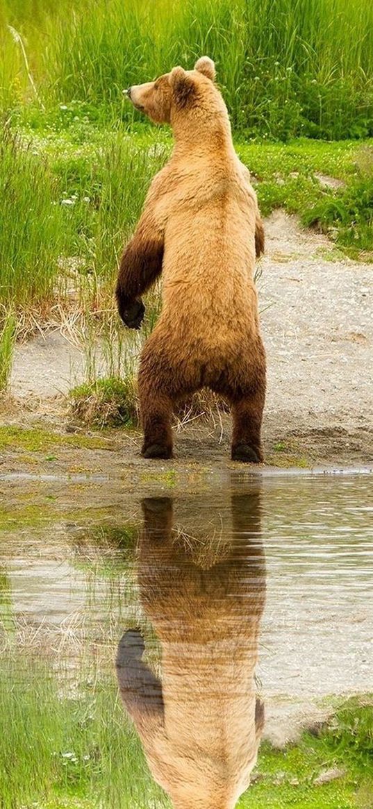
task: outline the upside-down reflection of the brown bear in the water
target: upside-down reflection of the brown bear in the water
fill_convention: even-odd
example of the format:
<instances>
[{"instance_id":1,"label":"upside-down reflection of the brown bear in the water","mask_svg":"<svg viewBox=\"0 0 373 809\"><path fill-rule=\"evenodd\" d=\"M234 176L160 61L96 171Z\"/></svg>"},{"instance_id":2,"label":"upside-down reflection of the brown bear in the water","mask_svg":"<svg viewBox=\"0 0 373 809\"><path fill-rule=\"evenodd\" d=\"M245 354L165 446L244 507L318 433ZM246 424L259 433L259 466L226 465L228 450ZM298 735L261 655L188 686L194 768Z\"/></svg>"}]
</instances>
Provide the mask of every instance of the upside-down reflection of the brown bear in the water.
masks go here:
<instances>
[{"instance_id":1,"label":"upside-down reflection of the brown bear in the water","mask_svg":"<svg viewBox=\"0 0 373 809\"><path fill-rule=\"evenodd\" d=\"M264 726L254 681L265 604L260 493L232 493L214 508L152 498L142 509L138 585L161 679L131 629L117 652L121 697L176 809L234 807Z\"/></svg>"}]
</instances>

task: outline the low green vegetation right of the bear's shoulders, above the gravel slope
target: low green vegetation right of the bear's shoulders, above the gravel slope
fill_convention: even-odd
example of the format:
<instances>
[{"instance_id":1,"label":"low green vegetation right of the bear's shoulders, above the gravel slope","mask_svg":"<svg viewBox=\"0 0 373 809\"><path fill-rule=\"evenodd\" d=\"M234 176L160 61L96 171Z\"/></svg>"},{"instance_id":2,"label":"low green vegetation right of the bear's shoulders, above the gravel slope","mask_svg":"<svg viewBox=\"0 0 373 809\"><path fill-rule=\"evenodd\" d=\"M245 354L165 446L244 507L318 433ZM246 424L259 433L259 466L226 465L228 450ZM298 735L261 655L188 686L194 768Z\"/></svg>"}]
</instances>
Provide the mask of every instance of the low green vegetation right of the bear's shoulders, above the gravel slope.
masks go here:
<instances>
[{"instance_id":1,"label":"low green vegetation right of the bear's shoulders, above the gravel slope","mask_svg":"<svg viewBox=\"0 0 373 809\"><path fill-rule=\"evenodd\" d=\"M305 226L320 227L347 255L373 249L373 143L325 143L300 139L284 146L237 146L260 180L261 211L298 214ZM339 180L324 185L323 176ZM369 256L365 256L366 260Z\"/></svg>"}]
</instances>

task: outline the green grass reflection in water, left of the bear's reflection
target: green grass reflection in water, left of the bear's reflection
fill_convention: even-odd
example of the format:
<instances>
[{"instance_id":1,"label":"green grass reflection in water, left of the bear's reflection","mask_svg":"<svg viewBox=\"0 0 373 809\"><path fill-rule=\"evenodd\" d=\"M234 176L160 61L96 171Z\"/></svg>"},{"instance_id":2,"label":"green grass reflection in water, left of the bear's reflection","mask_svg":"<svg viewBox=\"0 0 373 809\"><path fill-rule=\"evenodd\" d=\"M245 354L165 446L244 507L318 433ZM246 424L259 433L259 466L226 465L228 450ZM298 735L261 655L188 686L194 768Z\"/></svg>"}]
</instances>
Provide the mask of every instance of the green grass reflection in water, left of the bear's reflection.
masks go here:
<instances>
[{"instance_id":1,"label":"green grass reflection in water, left of the bear's reflection","mask_svg":"<svg viewBox=\"0 0 373 809\"><path fill-rule=\"evenodd\" d=\"M61 693L57 676L35 659L18 655L2 661L2 809L120 809L161 800L116 686L88 673L89 678L78 672L78 688L69 697Z\"/></svg>"}]
</instances>

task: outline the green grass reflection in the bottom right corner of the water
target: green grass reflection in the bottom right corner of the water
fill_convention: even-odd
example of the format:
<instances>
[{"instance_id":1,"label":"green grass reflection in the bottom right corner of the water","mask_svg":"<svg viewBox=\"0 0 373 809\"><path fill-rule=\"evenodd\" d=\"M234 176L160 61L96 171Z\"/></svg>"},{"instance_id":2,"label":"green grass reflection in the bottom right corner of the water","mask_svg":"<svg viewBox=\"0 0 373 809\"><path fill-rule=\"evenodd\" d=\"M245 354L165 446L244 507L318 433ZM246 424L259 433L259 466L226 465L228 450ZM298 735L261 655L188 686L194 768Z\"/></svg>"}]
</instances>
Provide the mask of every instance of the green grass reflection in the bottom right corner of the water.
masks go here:
<instances>
[{"instance_id":1,"label":"green grass reflection in the bottom right corner of the water","mask_svg":"<svg viewBox=\"0 0 373 809\"><path fill-rule=\"evenodd\" d=\"M344 774L322 786L313 784L333 768ZM240 801L247 809L370 809L373 701L346 701L319 735L305 733L284 751L262 745L257 772L258 780Z\"/></svg>"}]
</instances>

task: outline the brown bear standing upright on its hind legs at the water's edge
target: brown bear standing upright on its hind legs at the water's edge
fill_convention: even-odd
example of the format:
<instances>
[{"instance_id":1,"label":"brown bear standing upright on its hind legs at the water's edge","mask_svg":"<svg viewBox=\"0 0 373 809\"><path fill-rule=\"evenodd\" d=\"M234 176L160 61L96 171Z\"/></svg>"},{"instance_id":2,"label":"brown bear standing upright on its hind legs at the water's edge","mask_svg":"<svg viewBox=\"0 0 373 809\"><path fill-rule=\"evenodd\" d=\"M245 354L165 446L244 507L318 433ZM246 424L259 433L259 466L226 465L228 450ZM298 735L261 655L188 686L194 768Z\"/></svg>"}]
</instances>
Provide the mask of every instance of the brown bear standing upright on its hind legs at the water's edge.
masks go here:
<instances>
[{"instance_id":1,"label":"brown bear standing upright on its hind legs at the water's edge","mask_svg":"<svg viewBox=\"0 0 373 809\"><path fill-rule=\"evenodd\" d=\"M175 147L121 258L117 304L139 328L141 295L163 272L162 312L138 374L142 455L172 457L173 406L207 387L231 405L232 459L259 463L265 349L253 271L264 233L214 78L202 57L194 70L174 67L127 91L152 121L171 123Z\"/></svg>"}]
</instances>

